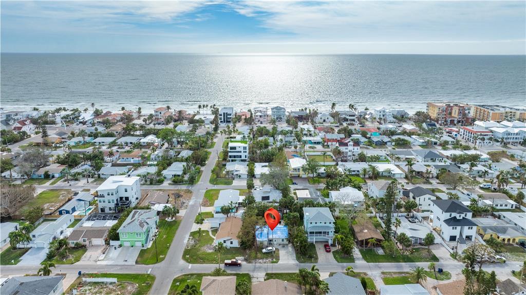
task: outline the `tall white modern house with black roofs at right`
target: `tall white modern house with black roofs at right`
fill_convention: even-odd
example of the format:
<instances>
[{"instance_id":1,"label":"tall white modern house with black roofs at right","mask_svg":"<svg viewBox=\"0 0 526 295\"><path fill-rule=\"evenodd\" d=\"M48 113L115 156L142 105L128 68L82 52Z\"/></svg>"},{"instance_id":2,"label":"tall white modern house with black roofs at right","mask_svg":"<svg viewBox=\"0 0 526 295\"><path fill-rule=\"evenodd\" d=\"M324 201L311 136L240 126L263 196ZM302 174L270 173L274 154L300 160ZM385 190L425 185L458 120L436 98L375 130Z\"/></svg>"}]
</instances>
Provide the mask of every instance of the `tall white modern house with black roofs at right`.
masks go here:
<instances>
[{"instance_id":1,"label":"tall white modern house with black roofs at right","mask_svg":"<svg viewBox=\"0 0 526 295\"><path fill-rule=\"evenodd\" d=\"M477 234L477 225L471 221L472 211L457 200L431 200L429 220L433 228L440 229L440 235L447 241L465 243Z\"/></svg>"}]
</instances>

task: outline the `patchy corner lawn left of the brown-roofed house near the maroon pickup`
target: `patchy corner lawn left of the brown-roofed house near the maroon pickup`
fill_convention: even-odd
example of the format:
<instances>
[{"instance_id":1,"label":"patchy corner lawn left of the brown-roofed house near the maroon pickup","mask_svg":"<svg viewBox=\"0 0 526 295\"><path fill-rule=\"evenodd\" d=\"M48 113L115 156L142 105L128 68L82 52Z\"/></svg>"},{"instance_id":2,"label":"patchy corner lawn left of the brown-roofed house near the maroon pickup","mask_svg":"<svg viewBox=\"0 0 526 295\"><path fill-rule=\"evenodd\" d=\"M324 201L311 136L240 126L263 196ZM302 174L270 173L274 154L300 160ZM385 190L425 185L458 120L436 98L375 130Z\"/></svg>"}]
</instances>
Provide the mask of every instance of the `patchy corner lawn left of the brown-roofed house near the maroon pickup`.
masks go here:
<instances>
[{"instance_id":1,"label":"patchy corner lawn left of the brown-roofed house near the maroon pickup","mask_svg":"<svg viewBox=\"0 0 526 295\"><path fill-rule=\"evenodd\" d=\"M190 237L197 239L197 243L190 248L185 248L183 259L190 264L216 264L217 253L214 251L207 252L203 249L203 247L210 246L214 243L214 239L210 237L208 231L202 230L201 236L198 235L197 230L192 231ZM221 253L221 262L219 264L222 265L222 261L240 256L245 256L245 251L241 248L227 249Z\"/></svg>"}]
</instances>

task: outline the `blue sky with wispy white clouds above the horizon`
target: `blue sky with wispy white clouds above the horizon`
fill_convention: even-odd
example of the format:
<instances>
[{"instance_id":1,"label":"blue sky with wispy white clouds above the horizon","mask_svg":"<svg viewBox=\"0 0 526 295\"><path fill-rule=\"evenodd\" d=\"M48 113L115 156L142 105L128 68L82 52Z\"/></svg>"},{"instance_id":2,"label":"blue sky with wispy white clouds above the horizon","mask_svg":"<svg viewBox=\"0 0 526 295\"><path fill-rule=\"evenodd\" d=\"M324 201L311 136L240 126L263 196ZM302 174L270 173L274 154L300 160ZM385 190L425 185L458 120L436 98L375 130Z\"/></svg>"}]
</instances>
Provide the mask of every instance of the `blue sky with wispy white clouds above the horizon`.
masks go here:
<instances>
[{"instance_id":1,"label":"blue sky with wispy white clouds above the horizon","mask_svg":"<svg viewBox=\"0 0 526 295\"><path fill-rule=\"evenodd\" d=\"M1 1L2 52L526 54L524 1Z\"/></svg>"}]
</instances>

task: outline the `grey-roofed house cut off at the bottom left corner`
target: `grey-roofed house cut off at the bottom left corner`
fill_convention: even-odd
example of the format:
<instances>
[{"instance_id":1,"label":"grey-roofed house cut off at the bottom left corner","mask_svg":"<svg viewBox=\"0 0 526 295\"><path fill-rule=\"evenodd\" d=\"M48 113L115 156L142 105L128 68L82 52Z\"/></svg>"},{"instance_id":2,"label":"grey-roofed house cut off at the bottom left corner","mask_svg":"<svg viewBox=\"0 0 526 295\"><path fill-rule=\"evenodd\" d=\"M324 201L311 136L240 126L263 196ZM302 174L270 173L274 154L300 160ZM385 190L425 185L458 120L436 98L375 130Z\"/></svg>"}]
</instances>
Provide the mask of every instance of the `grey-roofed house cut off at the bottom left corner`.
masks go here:
<instances>
[{"instance_id":1,"label":"grey-roofed house cut off at the bottom left corner","mask_svg":"<svg viewBox=\"0 0 526 295\"><path fill-rule=\"evenodd\" d=\"M2 295L60 295L64 292L65 276L17 276L3 280Z\"/></svg>"}]
</instances>

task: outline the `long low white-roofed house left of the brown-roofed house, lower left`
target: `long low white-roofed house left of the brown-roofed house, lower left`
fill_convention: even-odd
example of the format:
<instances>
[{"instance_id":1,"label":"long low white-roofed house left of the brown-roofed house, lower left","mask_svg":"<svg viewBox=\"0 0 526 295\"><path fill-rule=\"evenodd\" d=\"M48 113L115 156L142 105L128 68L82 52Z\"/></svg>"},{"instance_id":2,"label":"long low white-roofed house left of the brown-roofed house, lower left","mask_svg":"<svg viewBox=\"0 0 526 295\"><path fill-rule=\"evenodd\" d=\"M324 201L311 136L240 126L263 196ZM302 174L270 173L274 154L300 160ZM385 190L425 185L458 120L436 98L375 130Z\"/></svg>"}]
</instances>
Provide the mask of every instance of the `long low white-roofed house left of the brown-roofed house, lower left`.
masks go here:
<instances>
[{"instance_id":1,"label":"long low white-roofed house left of the brown-roofed house, lower left","mask_svg":"<svg viewBox=\"0 0 526 295\"><path fill-rule=\"evenodd\" d=\"M66 236L66 228L73 223L73 215L66 214L58 217L53 222L43 222L35 228L31 234L29 244L19 244L19 248L47 248L49 243L55 239Z\"/></svg>"}]
</instances>

